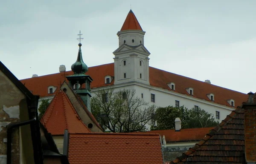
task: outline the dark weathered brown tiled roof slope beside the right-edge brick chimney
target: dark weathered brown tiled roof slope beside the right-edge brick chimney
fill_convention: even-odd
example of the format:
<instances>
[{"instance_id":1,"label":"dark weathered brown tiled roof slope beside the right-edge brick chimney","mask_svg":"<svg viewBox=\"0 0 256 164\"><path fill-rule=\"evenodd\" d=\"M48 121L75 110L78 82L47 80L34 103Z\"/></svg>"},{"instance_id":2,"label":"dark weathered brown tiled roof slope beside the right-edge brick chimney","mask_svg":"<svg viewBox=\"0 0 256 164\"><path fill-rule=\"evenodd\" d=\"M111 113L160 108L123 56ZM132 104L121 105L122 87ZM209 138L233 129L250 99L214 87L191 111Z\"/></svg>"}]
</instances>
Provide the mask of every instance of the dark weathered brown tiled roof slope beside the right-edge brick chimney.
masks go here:
<instances>
[{"instance_id":1,"label":"dark weathered brown tiled roof slope beside the right-edge brick chimney","mask_svg":"<svg viewBox=\"0 0 256 164\"><path fill-rule=\"evenodd\" d=\"M198 144L170 164L244 164L244 109L233 110Z\"/></svg>"}]
</instances>

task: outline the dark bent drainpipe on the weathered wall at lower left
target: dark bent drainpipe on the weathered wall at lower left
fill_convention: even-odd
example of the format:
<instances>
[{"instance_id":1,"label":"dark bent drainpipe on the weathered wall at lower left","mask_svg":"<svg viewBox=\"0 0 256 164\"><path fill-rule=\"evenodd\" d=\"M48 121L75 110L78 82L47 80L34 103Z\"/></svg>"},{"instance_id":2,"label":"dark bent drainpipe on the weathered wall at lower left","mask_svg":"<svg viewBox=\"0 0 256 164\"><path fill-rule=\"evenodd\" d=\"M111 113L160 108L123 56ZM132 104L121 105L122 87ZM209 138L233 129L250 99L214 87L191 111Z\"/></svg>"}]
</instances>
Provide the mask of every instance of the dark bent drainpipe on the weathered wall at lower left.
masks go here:
<instances>
[{"instance_id":1,"label":"dark bent drainpipe on the weathered wall at lower left","mask_svg":"<svg viewBox=\"0 0 256 164\"><path fill-rule=\"evenodd\" d=\"M36 118L23 122L10 123L7 125L7 164L11 164L12 160L12 129L35 122Z\"/></svg>"}]
</instances>

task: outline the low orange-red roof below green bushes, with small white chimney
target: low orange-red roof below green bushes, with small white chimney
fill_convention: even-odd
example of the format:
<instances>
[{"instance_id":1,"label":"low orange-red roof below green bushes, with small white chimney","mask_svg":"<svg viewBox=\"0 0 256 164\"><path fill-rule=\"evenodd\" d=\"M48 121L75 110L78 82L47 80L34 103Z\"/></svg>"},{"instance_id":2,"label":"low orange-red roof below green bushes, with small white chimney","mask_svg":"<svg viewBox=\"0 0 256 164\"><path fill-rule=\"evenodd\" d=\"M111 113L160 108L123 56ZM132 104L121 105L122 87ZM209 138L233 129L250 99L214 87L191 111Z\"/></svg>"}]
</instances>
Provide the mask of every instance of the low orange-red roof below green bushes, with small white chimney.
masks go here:
<instances>
[{"instance_id":1,"label":"low orange-red roof below green bushes, with small white chimney","mask_svg":"<svg viewBox=\"0 0 256 164\"><path fill-rule=\"evenodd\" d=\"M160 136L165 136L166 142L177 142L177 141L199 141L204 138L205 134L209 133L214 127L203 127L203 128L192 128L192 129L181 129L175 131L170 130L153 130L146 133L158 133Z\"/></svg>"}]
</instances>

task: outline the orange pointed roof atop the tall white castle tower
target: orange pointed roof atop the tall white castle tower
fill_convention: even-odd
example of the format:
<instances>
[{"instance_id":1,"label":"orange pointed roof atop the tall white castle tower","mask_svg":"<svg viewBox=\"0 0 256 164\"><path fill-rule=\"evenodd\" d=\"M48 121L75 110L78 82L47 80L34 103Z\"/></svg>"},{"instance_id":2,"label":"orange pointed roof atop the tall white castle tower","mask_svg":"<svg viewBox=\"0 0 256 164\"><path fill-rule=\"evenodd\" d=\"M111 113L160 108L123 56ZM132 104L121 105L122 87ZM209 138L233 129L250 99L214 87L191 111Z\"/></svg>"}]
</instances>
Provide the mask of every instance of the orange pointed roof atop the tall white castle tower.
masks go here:
<instances>
[{"instance_id":1,"label":"orange pointed roof atop the tall white castle tower","mask_svg":"<svg viewBox=\"0 0 256 164\"><path fill-rule=\"evenodd\" d=\"M140 23L138 22L137 18L135 17L134 13L130 10L124 24L120 31L124 30L142 30Z\"/></svg>"}]
</instances>

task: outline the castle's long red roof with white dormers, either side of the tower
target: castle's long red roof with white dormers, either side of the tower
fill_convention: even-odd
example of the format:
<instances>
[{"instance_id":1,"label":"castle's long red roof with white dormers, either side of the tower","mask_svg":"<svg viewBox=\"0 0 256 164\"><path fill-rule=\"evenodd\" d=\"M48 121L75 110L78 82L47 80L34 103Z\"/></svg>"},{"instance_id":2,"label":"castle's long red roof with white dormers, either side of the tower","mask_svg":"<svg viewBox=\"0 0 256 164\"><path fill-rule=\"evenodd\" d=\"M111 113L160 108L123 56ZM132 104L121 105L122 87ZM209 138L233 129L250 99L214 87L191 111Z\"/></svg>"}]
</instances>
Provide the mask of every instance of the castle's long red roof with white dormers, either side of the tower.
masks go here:
<instances>
[{"instance_id":1,"label":"castle's long red roof with white dormers, either side of the tower","mask_svg":"<svg viewBox=\"0 0 256 164\"><path fill-rule=\"evenodd\" d=\"M94 67L88 68L87 75L90 75L93 78L93 82L91 83L91 88L98 88L107 85L113 85L114 79L110 84L105 84L105 76L110 75L114 76L114 63L109 63L105 65L98 65ZM72 75L72 71L65 72L66 76ZM34 95L50 96L58 92L61 83L64 81L64 72L57 74L49 74L45 76L38 76L29 79L20 80L25 86L32 90ZM163 71L157 68L149 67L149 82L151 86L155 86L158 88L163 88L166 90L171 90L167 83L174 82L175 83L175 92L189 95L185 88L192 87L194 88L193 97L199 99L205 99L206 101L211 101L207 97L207 94L214 94L214 103L226 105L231 107L231 105L227 102L229 99L235 100L235 105L239 106L242 102L247 100L247 94L240 93L234 90L229 90L227 88L222 88L216 85L208 84L206 82L201 82L195 79L191 79L185 76L180 76L177 74L173 74L167 71ZM53 85L58 87L58 89L53 94L47 93L47 87Z\"/></svg>"}]
</instances>

